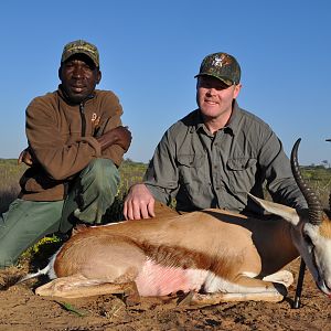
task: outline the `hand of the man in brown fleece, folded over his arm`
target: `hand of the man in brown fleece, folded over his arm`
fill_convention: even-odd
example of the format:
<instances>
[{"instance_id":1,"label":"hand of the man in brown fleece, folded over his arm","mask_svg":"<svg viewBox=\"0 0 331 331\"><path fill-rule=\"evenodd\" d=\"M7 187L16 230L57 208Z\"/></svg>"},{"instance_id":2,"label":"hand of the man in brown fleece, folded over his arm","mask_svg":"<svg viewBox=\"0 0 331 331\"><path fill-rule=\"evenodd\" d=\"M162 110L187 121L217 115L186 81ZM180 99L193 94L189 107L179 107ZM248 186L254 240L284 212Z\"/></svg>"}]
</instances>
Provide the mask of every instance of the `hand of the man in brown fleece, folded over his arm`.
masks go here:
<instances>
[{"instance_id":1,"label":"hand of the man in brown fleece, folded over his arm","mask_svg":"<svg viewBox=\"0 0 331 331\"><path fill-rule=\"evenodd\" d=\"M102 150L111 145L119 145L125 151L127 151L130 147L132 136L128 127L120 126L104 134L102 137L97 138L97 140L102 145Z\"/></svg>"}]
</instances>

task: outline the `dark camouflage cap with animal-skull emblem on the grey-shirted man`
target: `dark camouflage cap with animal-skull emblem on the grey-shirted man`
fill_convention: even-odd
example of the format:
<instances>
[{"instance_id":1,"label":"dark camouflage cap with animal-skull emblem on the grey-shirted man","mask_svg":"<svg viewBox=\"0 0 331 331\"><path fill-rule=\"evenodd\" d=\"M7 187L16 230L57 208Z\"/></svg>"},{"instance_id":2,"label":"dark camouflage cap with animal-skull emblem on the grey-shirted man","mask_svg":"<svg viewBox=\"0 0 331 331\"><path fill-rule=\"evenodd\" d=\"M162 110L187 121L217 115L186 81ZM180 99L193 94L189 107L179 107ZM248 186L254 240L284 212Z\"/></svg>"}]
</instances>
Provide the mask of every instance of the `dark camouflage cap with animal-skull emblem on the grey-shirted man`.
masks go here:
<instances>
[{"instance_id":1,"label":"dark camouflage cap with animal-skull emblem on the grey-shirted man","mask_svg":"<svg viewBox=\"0 0 331 331\"><path fill-rule=\"evenodd\" d=\"M218 78L229 86L241 82L241 66L229 54L213 53L204 57L195 77L204 75Z\"/></svg>"}]
</instances>

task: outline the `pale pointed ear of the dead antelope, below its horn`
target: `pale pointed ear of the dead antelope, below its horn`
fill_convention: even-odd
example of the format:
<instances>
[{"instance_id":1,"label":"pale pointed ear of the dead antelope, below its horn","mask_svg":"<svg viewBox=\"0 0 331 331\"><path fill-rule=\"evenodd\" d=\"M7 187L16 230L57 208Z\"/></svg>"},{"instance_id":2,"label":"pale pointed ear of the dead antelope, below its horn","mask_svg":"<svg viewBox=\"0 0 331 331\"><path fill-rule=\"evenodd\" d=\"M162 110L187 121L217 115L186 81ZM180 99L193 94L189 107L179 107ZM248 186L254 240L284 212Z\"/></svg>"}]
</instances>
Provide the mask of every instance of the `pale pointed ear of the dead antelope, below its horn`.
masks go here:
<instances>
[{"instance_id":1,"label":"pale pointed ear of the dead antelope, below its horn","mask_svg":"<svg viewBox=\"0 0 331 331\"><path fill-rule=\"evenodd\" d=\"M297 213L297 211L295 209L291 209L284 204L279 204L276 202L256 197L255 195L253 195L250 193L248 193L248 196L250 196L254 200L254 202L257 203L258 205L260 205L265 211L267 211L274 215L278 215L281 218L284 218L285 221L287 221L293 225L297 225L300 221L299 214Z\"/></svg>"}]
</instances>

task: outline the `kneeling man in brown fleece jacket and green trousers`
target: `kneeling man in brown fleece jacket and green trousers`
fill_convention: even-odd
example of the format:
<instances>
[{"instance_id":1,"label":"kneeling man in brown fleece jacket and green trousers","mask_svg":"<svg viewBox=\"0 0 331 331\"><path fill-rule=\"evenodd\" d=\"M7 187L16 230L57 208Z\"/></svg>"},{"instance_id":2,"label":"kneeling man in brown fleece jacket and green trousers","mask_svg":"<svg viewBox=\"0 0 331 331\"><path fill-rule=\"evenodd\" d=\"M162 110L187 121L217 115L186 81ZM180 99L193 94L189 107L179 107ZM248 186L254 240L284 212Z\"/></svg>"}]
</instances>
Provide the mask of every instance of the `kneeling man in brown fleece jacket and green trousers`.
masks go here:
<instances>
[{"instance_id":1,"label":"kneeling man in brown fleece jacket and green trousers","mask_svg":"<svg viewBox=\"0 0 331 331\"><path fill-rule=\"evenodd\" d=\"M100 224L118 191L118 167L131 142L122 108L102 79L99 53L84 40L63 49L61 84L26 109L28 166L21 192L0 217L0 268L44 235L77 223Z\"/></svg>"}]
</instances>

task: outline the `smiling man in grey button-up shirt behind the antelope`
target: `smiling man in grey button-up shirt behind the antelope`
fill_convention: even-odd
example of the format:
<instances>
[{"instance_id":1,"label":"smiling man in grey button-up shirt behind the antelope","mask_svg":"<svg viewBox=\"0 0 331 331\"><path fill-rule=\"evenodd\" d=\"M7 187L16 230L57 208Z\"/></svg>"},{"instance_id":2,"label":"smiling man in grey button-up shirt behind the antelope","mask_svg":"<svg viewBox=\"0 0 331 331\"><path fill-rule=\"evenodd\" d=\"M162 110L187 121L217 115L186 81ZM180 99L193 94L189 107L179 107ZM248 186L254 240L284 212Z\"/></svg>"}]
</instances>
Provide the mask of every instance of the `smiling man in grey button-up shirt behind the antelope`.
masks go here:
<instances>
[{"instance_id":1,"label":"smiling man in grey button-up shirt behind the antelope","mask_svg":"<svg viewBox=\"0 0 331 331\"><path fill-rule=\"evenodd\" d=\"M195 76L199 108L172 125L159 142L143 183L130 188L127 220L158 214L175 199L179 213L220 207L261 213L247 193L306 207L280 140L261 119L239 108L241 66L224 52L207 55Z\"/></svg>"}]
</instances>

